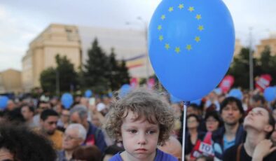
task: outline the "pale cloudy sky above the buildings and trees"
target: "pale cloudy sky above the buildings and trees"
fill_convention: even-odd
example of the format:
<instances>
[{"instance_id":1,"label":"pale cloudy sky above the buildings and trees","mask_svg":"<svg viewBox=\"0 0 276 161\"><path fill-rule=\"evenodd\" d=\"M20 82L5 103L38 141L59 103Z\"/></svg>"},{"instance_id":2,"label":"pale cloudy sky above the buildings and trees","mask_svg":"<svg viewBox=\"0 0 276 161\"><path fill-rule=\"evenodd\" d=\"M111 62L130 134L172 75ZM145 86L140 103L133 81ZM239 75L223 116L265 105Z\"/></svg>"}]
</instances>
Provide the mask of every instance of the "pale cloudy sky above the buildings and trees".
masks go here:
<instances>
[{"instance_id":1,"label":"pale cloudy sky above the buildings and trees","mask_svg":"<svg viewBox=\"0 0 276 161\"><path fill-rule=\"evenodd\" d=\"M149 24L160 1L0 0L0 71L22 70L22 57L29 43L51 23L144 29L144 23ZM249 45L250 27L254 45L276 33L275 0L222 1L230 10L236 38L242 41L242 45ZM130 24L126 25L126 22Z\"/></svg>"}]
</instances>

